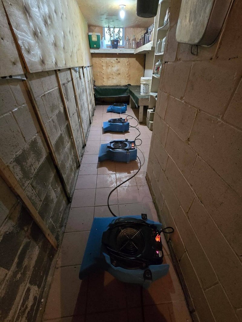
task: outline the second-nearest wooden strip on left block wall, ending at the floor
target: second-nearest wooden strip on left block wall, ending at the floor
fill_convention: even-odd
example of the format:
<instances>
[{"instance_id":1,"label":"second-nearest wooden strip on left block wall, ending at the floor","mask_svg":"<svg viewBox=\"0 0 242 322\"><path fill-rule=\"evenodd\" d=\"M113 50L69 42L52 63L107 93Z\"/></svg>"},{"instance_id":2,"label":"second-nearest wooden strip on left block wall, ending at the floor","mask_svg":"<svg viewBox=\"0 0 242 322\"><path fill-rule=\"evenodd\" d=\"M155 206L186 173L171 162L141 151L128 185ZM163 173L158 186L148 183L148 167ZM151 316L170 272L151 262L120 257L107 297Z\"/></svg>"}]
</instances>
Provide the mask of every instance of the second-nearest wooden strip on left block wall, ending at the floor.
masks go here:
<instances>
[{"instance_id":1,"label":"second-nearest wooden strip on left block wall, ending at the floor","mask_svg":"<svg viewBox=\"0 0 242 322\"><path fill-rule=\"evenodd\" d=\"M53 163L54 163L54 165L55 165L56 172L57 172L57 174L58 174L58 176L59 176L60 182L61 182L62 187L63 187L63 189L64 189L64 192L65 192L65 194L66 194L66 198L67 198L67 200L68 200L68 201L71 201L70 192L69 192L69 190L68 190L68 188L67 188L67 185L66 185L65 179L64 179L64 177L63 177L63 175L62 175L62 172L61 172L61 169L60 169L59 162L58 162L57 157L56 157L56 155L55 155L55 151L54 151L54 148L53 148L53 146L52 146L52 144L51 144L51 141L50 141L50 137L49 137L49 135L48 135L48 132L47 132L47 130L46 130L46 128L45 128L45 123L44 123L43 118L42 118L42 116L41 116L41 114L40 114L40 111L39 111L39 109L38 109L38 105L37 105L37 103L36 103L34 93L33 93L32 89L31 89L31 87L30 87L30 85L29 85L28 80L27 80L27 76L26 76L26 80L25 80L25 81L23 81L23 82L24 82L25 89L26 89L26 92L27 92L27 94L28 94L28 97L29 97L29 99L30 99L30 102L32 103L32 106L33 106L33 109L34 109L34 112L35 112L36 118L37 118L38 123L39 123L39 126L40 126L40 128L41 128L41 130L42 130L42 133L43 133L43 136L44 136L44 138L45 138L45 143L46 143L46 145L47 145L47 147L48 147L48 149L49 149L49 151L50 151L50 156L51 156L52 161L53 161Z\"/></svg>"}]
</instances>

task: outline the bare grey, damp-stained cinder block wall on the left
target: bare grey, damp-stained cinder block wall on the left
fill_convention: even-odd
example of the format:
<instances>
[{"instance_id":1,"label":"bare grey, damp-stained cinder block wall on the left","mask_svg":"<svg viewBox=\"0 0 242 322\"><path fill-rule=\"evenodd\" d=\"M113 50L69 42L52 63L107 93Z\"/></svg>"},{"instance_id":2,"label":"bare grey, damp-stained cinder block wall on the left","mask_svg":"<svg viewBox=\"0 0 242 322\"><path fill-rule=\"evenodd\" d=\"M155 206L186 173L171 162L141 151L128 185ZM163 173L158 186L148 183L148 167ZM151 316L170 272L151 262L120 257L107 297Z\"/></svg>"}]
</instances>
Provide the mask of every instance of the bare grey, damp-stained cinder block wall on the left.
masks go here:
<instances>
[{"instance_id":1,"label":"bare grey, damp-stained cinder block wall on the left","mask_svg":"<svg viewBox=\"0 0 242 322\"><path fill-rule=\"evenodd\" d=\"M90 119L82 72L72 70L85 136ZM79 157L82 135L69 69L58 72ZM77 156L55 71L27 74L37 107L70 192ZM45 138L22 80L0 81L0 156L59 242L68 205ZM56 252L19 198L0 177L0 320L35 321Z\"/></svg>"}]
</instances>

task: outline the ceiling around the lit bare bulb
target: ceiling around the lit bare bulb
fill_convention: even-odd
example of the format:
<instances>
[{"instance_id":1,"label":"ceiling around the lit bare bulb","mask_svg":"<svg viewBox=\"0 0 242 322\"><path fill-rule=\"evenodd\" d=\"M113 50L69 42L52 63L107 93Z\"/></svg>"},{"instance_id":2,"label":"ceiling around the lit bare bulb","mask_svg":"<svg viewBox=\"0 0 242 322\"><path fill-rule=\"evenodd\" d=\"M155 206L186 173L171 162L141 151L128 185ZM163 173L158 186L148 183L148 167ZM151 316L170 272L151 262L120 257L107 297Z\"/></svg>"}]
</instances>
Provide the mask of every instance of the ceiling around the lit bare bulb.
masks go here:
<instances>
[{"instance_id":1,"label":"ceiling around the lit bare bulb","mask_svg":"<svg viewBox=\"0 0 242 322\"><path fill-rule=\"evenodd\" d=\"M154 18L136 15L136 0L77 0L89 26L116 26L145 28L154 23ZM119 5L126 5L125 17L119 16Z\"/></svg>"}]
</instances>

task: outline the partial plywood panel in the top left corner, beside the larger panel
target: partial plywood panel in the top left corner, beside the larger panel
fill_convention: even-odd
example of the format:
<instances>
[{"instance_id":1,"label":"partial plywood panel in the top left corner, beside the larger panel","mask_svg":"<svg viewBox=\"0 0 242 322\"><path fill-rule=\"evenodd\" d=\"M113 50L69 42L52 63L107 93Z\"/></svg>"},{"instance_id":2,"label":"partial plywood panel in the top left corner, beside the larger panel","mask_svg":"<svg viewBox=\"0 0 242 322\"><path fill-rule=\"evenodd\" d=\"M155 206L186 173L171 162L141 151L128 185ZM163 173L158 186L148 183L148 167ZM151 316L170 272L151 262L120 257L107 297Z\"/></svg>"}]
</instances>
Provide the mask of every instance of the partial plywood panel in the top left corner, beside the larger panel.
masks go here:
<instances>
[{"instance_id":1,"label":"partial plywood panel in the top left corner, beside the larger panel","mask_svg":"<svg viewBox=\"0 0 242 322\"><path fill-rule=\"evenodd\" d=\"M0 77L24 73L2 1L0 1L0 58Z\"/></svg>"}]
</instances>

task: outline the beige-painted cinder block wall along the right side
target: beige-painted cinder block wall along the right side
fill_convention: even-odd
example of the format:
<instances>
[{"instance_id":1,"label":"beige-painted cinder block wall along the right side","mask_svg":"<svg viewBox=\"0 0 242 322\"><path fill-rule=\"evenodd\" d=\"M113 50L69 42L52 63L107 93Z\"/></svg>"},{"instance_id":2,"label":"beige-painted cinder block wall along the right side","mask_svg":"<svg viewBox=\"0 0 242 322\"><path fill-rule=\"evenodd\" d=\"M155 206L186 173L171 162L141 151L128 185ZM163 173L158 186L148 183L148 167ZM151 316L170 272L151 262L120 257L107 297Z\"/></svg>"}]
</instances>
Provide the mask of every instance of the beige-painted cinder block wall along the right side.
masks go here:
<instances>
[{"instance_id":1,"label":"beige-painted cinder block wall along the right side","mask_svg":"<svg viewBox=\"0 0 242 322\"><path fill-rule=\"evenodd\" d=\"M178 44L171 1L147 180L195 321L242 321L242 2L211 47Z\"/></svg>"}]
</instances>

